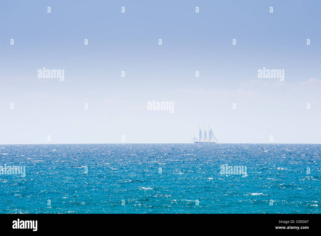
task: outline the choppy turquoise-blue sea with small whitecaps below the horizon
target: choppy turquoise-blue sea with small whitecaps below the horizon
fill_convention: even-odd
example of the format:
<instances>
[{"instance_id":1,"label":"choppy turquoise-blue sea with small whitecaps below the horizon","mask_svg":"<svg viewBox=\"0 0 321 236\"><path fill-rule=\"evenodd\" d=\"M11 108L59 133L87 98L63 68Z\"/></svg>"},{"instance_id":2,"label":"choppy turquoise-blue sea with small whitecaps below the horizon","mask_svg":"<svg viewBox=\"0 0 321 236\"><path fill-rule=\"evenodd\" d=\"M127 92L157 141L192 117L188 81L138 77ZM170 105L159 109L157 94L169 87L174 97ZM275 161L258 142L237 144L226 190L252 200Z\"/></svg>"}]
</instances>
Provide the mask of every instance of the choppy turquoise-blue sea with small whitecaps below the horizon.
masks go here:
<instances>
[{"instance_id":1,"label":"choppy turquoise-blue sea with small whitecaps below the horizon","mask_svg":"<svg viewBox=\"0 0 321 236\"><path fill-rule=\"evenodd\" d=\"M4 164L26 175L0 174L0 213L321 213L321 144L0 145Z\"/></svg>"}]
</instances>

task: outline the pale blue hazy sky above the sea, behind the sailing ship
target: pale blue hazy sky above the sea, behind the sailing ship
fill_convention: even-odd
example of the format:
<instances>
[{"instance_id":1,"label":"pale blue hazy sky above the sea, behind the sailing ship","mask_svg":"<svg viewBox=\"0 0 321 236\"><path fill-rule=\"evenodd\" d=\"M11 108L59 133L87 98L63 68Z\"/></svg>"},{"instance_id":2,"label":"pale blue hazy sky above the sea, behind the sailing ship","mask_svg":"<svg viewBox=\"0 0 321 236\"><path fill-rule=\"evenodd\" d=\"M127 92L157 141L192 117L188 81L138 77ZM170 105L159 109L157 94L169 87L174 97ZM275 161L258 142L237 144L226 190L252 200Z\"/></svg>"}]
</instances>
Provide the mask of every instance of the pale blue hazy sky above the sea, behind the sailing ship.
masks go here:
<instances>
[{"instance_id":1,"label":"pale blue hazy sky above the sea, behind the sailing ship","mask_svg":"<svg viewBox=\"0 0 321 236\"><path fill-rule=\"evenodd\" d=\"M190 143L208 124L219 143L320 144L320 9L320 1L2 2L0 144ZM38 78L43 67L63 69L64 80ZM264 67L284 70L284 80L258 78ZM148 110L153 100L173 112Z\"/></svg>"}]
</instances>

